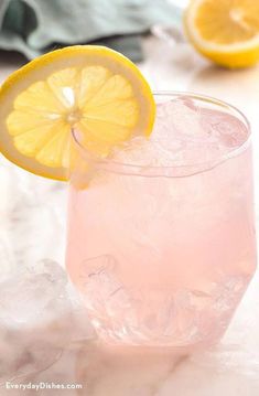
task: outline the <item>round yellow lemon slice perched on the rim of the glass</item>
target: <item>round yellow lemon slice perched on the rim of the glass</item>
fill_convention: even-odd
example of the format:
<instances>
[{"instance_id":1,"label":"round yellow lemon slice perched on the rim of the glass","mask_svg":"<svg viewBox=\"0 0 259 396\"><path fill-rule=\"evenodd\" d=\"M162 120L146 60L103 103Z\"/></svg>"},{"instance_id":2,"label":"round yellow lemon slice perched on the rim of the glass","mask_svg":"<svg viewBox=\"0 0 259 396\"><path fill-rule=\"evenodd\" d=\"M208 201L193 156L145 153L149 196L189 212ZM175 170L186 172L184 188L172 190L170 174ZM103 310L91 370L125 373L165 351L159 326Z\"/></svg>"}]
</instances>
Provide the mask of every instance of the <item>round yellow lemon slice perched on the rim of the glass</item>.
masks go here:
<instances>
[{"instance_id":1,"label":"round yellow lemon slice perched on the rim of the glass","mask_svg":"<svg viewBox=\"0 0 259 396\"><path fill-rule=\"evenodd\" d=\"M0 151L32 173L67 180L72 129L105 157L149 136L155 105L138 67L104 46L69 46L13 73L0 88Z\"/></svg>"}]
</instances>

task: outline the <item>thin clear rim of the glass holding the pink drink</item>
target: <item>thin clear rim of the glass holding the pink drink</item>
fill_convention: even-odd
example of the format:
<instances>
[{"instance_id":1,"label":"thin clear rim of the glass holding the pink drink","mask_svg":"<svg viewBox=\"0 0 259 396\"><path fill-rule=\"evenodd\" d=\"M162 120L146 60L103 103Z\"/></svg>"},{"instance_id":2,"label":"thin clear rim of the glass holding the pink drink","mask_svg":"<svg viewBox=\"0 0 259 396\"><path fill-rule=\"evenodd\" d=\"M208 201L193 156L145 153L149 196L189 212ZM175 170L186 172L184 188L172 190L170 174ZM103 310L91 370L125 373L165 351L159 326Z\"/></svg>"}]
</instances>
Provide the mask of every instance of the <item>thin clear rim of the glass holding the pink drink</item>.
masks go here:
<instances>
[{"instance_id":1,"label":"thin clear rim of the glass holding the pink drink","mask_svg":"<svg viewBox=\"0 0 259 396\"><path fill-rule=\"evenodd\" d=\"M213 96L207 96L203 94L198 94L195 92L179 92L179 90L153 90L153 95L155 97L188 97L195 100L201 100L204 103L211 103L212 105L220 106L222 108L228 109L231 114L239 119L247 128L247 138L246 140L240 143L238 147L229 150L228 152L218 157L218 159L214 161L204 161L204 162L195 162L192 164L180 164L180 165L145 165L145 164L136 164L136 163L127 163L121 161L116 161L112 159L99 159L91 156L87 149L79 142L78 138L76 137L76 131L72 130L73 140L75 141L77 148L82 152L82 157L86 161L91 161L95 163L95 167L98 170L106 170L112 173L121 173L121 174L132 174L132 175L142 175L142 176L174 176L174 178L183 178L193 175L196 173L202 173L213 168L219 165L220 163L240 154L245 151L251 140L251 126L248 118L245 114L239 110L236 106L228 104L225 100L217 99Z\"/></svg>"}]
</instances>

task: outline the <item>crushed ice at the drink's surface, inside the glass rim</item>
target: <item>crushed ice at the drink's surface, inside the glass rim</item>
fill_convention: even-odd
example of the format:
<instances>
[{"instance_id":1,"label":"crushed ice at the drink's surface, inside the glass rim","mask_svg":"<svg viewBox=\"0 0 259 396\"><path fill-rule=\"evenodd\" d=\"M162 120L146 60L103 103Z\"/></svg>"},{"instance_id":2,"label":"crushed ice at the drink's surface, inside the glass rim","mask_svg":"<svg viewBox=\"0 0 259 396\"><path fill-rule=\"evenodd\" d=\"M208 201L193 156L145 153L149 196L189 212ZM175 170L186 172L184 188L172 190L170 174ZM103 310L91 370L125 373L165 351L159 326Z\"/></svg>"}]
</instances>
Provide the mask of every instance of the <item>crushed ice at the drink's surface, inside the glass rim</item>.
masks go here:
<instances>
[{"instance_id":1,"label":"crushed ice at the drink's surface, inside the glass rim","mask_svg":"<svg viewBox=\"0 0 259 396\"><path fill-rule=\"evenodd\" d=\"M151 137L134 137L117 148L112 159L145 167L194 165L220 159L245 142L247 133L233 115L183 97L158 104Z\"/></svg>"}]
</instances>

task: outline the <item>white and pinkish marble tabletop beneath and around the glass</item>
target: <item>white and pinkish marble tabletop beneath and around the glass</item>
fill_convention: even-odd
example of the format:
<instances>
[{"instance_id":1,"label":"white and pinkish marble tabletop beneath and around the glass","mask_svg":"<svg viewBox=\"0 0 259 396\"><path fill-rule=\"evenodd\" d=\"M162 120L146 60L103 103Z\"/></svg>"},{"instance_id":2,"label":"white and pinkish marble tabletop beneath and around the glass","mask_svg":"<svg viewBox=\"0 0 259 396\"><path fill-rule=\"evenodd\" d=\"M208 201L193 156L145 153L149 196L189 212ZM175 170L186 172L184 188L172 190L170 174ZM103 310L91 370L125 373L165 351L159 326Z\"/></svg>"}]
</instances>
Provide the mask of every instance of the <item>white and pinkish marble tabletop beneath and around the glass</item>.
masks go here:
<instances>
[{"instance_id":1,"label":"white and pinkish marble tabletop beneath and around the glass","mask_svg":"<svg viewBox=\"0 0 259 396\"><path fill-rule=\"evenodd\" d=\"M259 172L259 67L244 71L218 68L187 44L170 46L155 36L144 41L145 62L140 67L153 89L191 90L225 99L248 116L253 130L255 174ZM21 56L0 52L0 82L24 63ZM42 258L64 261L66 185L26 173L0 159L1 272ZM256 183L256 190L259 183ZM256 191L257 221L259 195ZM82 390L53 394L87 396L258 396L259 395L259 288L258 275L238 308L225 338L216 347L192 356L165 351L115 351L95 340L67 344L50 367L34 365L26 372L23 353L20 383L78 383ZM36 331L36 330L35 330ZM25 356L25 357L24 357ZM3 358L1 356L1 358ZM4 363L4 361L3 361ZM35 370L35 367L37 367ZM43 371L42 371L43 370ZM1 382L1 381L0 381ZM3 386L1 395L9 395ZM24 394L13 390L11 394ZM32 393L28 390L28 395ZM40 390L39 395L52 394Z\"/></svg>"}]
</instances>

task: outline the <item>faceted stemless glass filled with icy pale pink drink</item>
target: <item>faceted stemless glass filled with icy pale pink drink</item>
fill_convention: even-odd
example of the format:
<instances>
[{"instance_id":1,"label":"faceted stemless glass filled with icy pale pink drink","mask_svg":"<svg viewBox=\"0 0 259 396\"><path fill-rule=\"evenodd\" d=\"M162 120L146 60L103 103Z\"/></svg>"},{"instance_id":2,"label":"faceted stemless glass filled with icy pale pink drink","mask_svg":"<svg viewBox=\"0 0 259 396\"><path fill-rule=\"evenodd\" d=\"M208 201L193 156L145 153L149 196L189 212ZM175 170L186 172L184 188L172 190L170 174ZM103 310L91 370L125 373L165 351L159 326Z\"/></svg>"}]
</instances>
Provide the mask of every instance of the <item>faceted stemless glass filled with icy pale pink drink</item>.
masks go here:
<instances>
[{"instance_id":1,"label":"faceted stemless glass filled with icy pale pink drink","mask_svg":"<svg viewBox=\"0 0 259 396\"><path fill-rule=\"evenodd\" d=\"M76 143L67 270L106 342L191 350L219 340L256 269L250 132L217 100L158 103L150 140L88 172Z\"/></svg>"}]
</instances>

